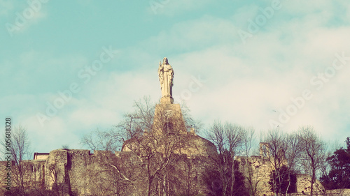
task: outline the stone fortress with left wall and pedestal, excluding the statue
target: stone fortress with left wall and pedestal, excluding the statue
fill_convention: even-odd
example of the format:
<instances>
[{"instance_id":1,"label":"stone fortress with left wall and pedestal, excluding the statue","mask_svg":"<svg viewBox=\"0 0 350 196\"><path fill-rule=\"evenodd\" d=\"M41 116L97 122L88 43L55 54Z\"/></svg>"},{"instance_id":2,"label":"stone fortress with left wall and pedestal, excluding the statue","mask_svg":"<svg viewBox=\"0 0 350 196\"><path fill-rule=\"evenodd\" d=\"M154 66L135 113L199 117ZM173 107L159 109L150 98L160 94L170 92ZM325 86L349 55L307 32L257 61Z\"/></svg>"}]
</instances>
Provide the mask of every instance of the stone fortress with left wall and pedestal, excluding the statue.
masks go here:
<instances>
[{"instance_id":1,"label":"stone fortress with left wall and pedestal, excluding the statue","mask_svg":"<svg viewBox=\"0 0 350 196\"><path fill-rule=\"evenodd\" d=\"M125 141L122 151L116 153L76 149L34 153L34 160L22 162L25 190L43 195L147 195L148 189L162 195L207 194L202 176L210 166L208 157L216 153L214 144L186 130L180 105L157 105L154 119L153 130ZM175 131L165 133L164 126ZM155 153L147 154L142 146ZM165 168L158 169L159 165ZM157 178L148 166L155 167ZM12 166L13 174L18 174L16 168ZM156 179L151 185L147 181L150 176Z\"/></svg>"}]
</instances>

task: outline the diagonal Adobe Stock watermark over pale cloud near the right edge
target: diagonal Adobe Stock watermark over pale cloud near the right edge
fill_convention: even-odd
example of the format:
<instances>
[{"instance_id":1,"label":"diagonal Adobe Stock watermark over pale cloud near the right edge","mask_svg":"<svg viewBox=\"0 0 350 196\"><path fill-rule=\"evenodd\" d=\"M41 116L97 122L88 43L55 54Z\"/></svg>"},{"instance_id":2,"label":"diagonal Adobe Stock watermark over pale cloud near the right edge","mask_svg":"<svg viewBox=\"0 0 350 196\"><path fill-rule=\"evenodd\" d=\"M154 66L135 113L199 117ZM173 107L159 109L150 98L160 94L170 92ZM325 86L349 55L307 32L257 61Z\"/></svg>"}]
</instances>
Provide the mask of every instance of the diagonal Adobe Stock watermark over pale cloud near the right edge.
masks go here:
<instances>
[{"instance_id":1,"label":"diagonal Adobe Stock watermark over pale cloud near the right edge","mask_svg":"<svg viewBox=\"0 0 350 196\"><path fill-rule=\"evenodd\" d=\"M325 83L330 82L332 77L335 77L335 74L344 68L344 66L349 65L350 56L345 56L345 52L342 54L336 53L335 59L332 61L332 65L325 68L323 73L317 73L317 76L311 77L310 84L314 86L317 91L321 91ZM292 116L295 116L297 112L299 112L302 107L305 106L308 100L311 100L314 97L314 94L310 89L304 89L302 91L301 96L297 96L296 98L290 98L290 105L286 107L285 110L279 108L279 117L278 120L274 119L269 120L269 125L271 128L282 127L284 124L290 121Z\"/></svg>"}]
</instances>

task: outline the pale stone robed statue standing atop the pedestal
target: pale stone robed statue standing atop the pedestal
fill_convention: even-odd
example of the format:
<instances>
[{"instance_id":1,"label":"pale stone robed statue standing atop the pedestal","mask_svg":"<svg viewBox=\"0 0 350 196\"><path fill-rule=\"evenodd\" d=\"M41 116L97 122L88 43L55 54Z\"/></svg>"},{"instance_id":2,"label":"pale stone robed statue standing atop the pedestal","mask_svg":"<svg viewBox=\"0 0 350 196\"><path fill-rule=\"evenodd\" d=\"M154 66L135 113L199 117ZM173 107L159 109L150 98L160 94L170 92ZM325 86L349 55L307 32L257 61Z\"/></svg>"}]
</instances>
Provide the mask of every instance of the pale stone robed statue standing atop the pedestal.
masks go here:
<instances>
[{"instance_id":1,"label":"pale stone robed statue standing atop the pedestal","mask_svg":"<svg viewBox=\"0 0 350 196\"><path fill-rule=\"evenodd\" d=\"M162 98L160 99L160 103L174 103L174 99L172 98L174 70L172 66L169 65L166 57L163 59L163 63L159 62L158 76L160 81L160 89L162 89Z\"/></svg>"}]
</instances>

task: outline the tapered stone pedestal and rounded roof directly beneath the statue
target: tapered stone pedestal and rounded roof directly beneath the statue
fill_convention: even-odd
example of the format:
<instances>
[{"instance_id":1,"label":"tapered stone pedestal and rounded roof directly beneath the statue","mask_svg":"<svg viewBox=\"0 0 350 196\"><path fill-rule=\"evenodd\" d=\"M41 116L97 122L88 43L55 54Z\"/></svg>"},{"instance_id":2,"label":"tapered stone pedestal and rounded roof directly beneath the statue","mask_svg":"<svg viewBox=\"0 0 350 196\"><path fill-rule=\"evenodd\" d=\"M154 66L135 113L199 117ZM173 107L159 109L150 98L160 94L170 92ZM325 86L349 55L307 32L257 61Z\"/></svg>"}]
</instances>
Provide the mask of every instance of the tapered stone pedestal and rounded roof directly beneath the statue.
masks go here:
<instances>
[{"instance_id":1,"label":"tapered stone pedestal and rounded roof directly beneath the statue","mask_svg":"<svg viewBox=\"0 0 350 196\"><path fill-rule=\"evenodd\" d=\"M122 151L135 151L137 146L146 146L140 145L140 141L144 140L147 143L155 139L158 141L155 151L158 152L163 151L163 146L160 143L165 142L165 144L176 144L172 151L175 154L182 154L188 157L208 157L217 154L216 146L212 142L198 136L194 129L191 131L187 130L179 104L160 103L155 105L152 130L144 132L138 140L132 138L125 141ZM167 143L167 140L172 140L173 142Z\"/></svg>"}]
</instances>

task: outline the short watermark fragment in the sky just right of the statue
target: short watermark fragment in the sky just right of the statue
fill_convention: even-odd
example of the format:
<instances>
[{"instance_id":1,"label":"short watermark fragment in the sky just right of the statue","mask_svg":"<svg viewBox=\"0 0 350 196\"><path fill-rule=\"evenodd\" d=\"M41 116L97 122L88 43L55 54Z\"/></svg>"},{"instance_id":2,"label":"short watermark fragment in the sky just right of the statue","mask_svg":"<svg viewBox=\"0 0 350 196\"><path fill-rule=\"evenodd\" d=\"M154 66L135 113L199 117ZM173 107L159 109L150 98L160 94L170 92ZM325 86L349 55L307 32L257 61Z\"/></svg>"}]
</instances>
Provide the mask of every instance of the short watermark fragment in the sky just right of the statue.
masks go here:
<instances>
[{"instance_id":1,"label":"short watermark fragment in the sky just right of the statue","mask_svg":"<svg viewBox=\"0 0 350 196\"><path fill-rule=\"evenodd\" d=\"M207 80L202 79L200 75L198 77L194 77L191 75L191 81L188 83L188 88L183 89L180 95L175 95L174 100L179 101L181 103L183 100L190 100L192 98L192 94L200 91L203 87L203 83L207 82Z\"/></svg>"}]
</instances>

